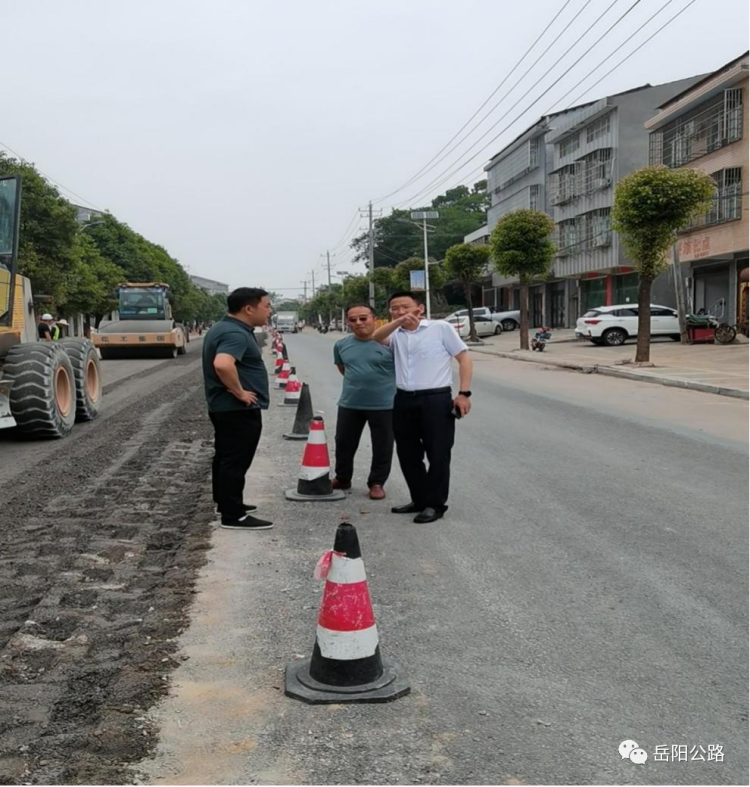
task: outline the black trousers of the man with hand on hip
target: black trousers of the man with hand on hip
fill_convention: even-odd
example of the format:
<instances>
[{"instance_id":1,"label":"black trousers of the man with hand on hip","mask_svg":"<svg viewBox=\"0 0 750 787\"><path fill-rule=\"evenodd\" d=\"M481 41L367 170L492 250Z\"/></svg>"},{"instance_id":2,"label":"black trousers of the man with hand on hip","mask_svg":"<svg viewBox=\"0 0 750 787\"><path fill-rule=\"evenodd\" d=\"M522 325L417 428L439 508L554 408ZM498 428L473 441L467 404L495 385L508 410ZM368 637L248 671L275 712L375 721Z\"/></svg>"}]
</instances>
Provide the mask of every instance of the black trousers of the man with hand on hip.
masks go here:
<instances>
[{"instance_id":1,"label":"black trousers of the man with hand on hip","mask_svg":"<svg viewBox=\"0 0 750 787\"><path fill-rule=\"evenodd\" d=\"M258 409L209 413L209 416L215 436L214 502L222 519L239 519L245 515L245 475L260 442L263 420Z\"/></svg>"}]
</instances>

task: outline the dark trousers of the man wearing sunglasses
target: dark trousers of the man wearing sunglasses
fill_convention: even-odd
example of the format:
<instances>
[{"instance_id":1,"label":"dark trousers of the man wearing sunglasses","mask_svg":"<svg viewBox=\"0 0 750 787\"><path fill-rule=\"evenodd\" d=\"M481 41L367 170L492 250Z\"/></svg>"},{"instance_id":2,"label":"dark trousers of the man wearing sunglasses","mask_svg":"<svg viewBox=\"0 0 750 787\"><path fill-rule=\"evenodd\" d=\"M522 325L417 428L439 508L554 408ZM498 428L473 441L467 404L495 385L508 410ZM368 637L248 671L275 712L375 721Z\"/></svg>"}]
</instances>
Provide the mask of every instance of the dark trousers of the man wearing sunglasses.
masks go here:
<instances>
[{"instance_id":1,"label":"dark trousers of the man wearing sunglasses","mask_svg":"<svg viewBox=\"0 0 750 787\"><path fill-rule=\"evenodd\" d=\"M354 475L354 455L362 430L370 424L372 465L368 486L383 486L393 462L393 410L350 410L339 407L336 421L336 478L349 483Z\"/></svg>"}]
</instances>

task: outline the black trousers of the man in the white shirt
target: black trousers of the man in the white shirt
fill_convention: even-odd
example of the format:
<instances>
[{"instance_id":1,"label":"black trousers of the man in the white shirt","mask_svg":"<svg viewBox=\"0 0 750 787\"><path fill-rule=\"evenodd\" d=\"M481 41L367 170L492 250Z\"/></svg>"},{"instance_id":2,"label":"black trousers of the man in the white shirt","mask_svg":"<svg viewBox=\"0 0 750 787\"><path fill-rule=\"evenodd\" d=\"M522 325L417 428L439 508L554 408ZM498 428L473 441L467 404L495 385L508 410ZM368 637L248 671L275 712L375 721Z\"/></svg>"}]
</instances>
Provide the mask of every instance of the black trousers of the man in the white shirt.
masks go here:
<instances>
[{"instance_id":1,"label":"black trousers of the man in the white shirt","mask_svg":"<svg viewBox=\"0 0 750 787\"><path fill-rule=\"evenodd\" d=\"M401 472L419 508L445 508L451 478L451 451L456 436L450 391L411 395L398 391L393 429ZM424 458L430 463L425 467Z\"/></svg>"}]
</instances>

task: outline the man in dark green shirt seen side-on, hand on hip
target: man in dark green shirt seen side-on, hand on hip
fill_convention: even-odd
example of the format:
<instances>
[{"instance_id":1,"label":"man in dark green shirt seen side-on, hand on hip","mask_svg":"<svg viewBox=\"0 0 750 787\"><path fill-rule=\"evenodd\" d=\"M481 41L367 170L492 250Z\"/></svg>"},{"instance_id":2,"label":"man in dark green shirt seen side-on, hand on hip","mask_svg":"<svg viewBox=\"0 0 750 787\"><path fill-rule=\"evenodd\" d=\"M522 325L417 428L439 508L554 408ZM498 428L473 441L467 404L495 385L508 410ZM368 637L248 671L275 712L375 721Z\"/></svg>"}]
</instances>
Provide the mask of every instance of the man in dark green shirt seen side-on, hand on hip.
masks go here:
<instances>
[{"instance_id":1,"label":"man in dark green shirt seen side-on, hand on hip","mask_svg":"<svg viewBox=\"0 0 750 787\"><path fill-rule=\"evenodd\" d=\"M214 425L212 467L214 502L221 526L230 530L269 530L272 522L249 512L244 502L245 476L258 448L268 409L268 371L255 339L271 315L265 290L240 287L227 299L229 314L203 340L203 378L208 414Z\"/></svg>"}]
</instances>

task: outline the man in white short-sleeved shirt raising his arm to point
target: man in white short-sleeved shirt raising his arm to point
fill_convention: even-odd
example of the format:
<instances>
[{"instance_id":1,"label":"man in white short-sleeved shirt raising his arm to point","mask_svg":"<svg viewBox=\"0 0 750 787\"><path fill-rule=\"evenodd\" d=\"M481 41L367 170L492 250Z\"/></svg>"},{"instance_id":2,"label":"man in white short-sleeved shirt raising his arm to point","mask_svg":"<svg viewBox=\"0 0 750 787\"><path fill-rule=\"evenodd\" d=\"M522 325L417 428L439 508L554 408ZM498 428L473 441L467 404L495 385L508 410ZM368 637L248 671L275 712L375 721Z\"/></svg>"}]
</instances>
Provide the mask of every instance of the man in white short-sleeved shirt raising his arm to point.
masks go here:
<instances>
[{"instance_id":1,"label":"man in white short-sleeved shirt raising his arm to point","mask_svg":"<svg viewBox=\"0 0 750 787\"><path fill-rule=\"evenodd\" d=\"M473 363L450 323L424 319L424 304L414 293L397 292L388 305L393 321L379 328L375 339L393 350L397 386L393 429L401 471L411 493L408 505L392 511L416 514L415 522L435 522L448 509L456 419L471 410ZM454 358L460 376L455 398Z\"/></svg>"}]
</instances>

